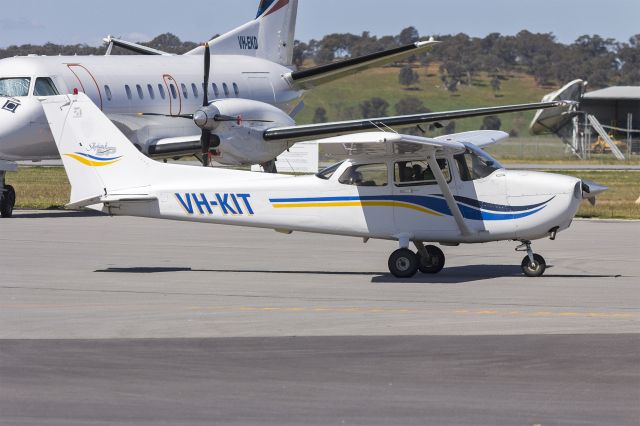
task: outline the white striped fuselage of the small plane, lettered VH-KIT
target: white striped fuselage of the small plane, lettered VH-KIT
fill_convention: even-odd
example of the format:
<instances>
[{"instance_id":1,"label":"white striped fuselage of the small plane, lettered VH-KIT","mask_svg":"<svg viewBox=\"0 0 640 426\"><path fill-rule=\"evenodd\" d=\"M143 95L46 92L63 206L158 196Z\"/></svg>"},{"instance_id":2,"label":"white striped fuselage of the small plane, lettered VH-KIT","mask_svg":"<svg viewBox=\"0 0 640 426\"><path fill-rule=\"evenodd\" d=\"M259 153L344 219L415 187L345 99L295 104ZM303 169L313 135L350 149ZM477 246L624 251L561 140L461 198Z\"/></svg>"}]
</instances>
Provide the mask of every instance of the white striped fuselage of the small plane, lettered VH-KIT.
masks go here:
<instances>
[{"instance_id":1,"label":"white striped fuselage of the small plane, lettered VH-KIT","mask_svg":"<svg viewBox=\"0 0 640 426\"><path fill-rule=\"evenodd\" d=\"M453 164L452 157L448 160ZM582 201L580 180L573 177L500 169L484 179L464 182L453 173L449 187L471 231L469 236L462 236L437 184L398 186L392 172L398 158L385 161L389 183L380 187L341 183L340 176L357 164L351 161L343 163L328 180L161 165L148 169L149 180L178 183L143 188L155 198L152 202L102 209L113 215L283 232L482 243L535 240L549 236L554 229L564 230ZM136 193L131 191L132 196Z\"/></svg>"}]
</instances>

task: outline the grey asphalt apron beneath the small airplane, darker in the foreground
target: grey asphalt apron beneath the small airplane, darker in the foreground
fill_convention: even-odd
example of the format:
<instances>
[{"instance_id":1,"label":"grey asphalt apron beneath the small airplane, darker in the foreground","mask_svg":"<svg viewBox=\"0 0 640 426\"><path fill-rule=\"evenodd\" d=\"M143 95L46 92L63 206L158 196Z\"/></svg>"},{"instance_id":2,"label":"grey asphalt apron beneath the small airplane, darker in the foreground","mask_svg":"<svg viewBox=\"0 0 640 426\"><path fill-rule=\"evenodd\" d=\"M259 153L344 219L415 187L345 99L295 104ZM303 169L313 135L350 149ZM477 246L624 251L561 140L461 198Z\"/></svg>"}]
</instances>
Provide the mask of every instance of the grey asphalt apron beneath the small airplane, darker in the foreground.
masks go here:
<instances>
[{"instance_id":1,"label":"grey asphalt apron beneath the small airplane, darker in the foreground","mask_svg":"<svg viewBox=\"0 0 640 426\"><path fill-rule=\"evenodd\" d=\"M444 248L60 212L0 220L0 424L640 424L640 222Z\"/></svg>"}]
</instances>

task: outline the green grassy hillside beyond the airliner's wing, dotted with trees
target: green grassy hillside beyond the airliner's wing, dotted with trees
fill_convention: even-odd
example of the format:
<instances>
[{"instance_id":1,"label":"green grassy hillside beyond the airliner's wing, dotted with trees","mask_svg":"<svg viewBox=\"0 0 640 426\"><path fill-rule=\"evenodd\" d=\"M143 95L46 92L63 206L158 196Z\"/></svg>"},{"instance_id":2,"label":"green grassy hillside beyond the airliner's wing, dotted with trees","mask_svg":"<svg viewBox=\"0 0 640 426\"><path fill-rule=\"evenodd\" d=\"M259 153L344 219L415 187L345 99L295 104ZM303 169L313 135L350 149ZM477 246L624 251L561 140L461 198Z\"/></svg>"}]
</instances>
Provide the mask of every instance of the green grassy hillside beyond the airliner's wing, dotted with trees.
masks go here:
<instances>
[{"instance_id":1,"label":"green grassy hillside beyond the airliner's wing, dotted with trees","mask_svg":"<svg viewBox=\"0 0 640 426\"><path fill-rule=\"evenodd\" d=\"M407 89L400 85L398 74L400 68L376 68L347 77L313 89L305 98L306 107L297 117L299 123L311 123L316 108L327 110L330 121L360 118L361 102L373 97L385 99L390 107L389 113L396 114L395 105L405 97L419 98L432 111L446 111L463 108L495 106L511 103L538 102L554 88L539 87L533 77L526 74L509 74L501 80L501 89L497 94L491 89L489 77L481 73L474 78L471 86L460 85L456 93L442 87L437 65L416 67L420 81L415 88ZM519 134L526 134L533 112L504 115L502 130L515 129ZM456 131L476 130L482 125L482 118L459 120Z\"/></svg>"}]
</instances>

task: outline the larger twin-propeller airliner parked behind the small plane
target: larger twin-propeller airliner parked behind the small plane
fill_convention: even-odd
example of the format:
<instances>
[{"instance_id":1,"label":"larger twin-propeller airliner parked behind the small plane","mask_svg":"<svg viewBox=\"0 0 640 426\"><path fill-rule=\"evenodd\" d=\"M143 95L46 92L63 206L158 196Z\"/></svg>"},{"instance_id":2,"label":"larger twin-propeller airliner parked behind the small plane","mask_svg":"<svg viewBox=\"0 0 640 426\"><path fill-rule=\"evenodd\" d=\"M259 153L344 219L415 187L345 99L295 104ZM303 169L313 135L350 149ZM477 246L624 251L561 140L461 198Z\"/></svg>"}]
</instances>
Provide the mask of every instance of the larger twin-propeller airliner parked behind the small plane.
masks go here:
<instances>
[{"instance_id":1,"label":"larger twin-propeller airliner parked behind the small plane","mask_svg":"<svg viewBox=\"0 0 640 426\"><path fill-rule=\"evenodd\" d=\"M262 0L255 20L210 41L206 48L181 56L109 39L145 56L20 57L0 61L1 215L11 216L15 203L15 191L5 185L6 172L16 169L13 162L58 158L38 101L44 96L84 92L140 151L152 157L198 152L206 165L213 152L218 163L263 164L272 171L273 160L301 140L380 126L406 127L557 106L526 104L360 120L334 128L294 128L294 117L303 106L306 91L425 52L436 43L417 42L294 71L291 64L297 5L297 0ZM274 130L279 128L283 130Z\"/></svg>"}]
</instances>

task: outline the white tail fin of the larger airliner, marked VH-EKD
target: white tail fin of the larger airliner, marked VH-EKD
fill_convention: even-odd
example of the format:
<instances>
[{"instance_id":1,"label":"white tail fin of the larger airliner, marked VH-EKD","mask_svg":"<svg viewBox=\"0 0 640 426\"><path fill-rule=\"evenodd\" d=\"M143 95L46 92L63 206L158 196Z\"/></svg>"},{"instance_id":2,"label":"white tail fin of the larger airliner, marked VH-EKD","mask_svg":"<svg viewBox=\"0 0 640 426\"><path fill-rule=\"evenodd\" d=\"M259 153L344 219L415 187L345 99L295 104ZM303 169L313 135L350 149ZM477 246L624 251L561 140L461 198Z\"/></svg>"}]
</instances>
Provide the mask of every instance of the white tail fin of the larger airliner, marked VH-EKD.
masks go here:
<instances>
[{"instance_id":1,"label":"white tail fin of the larger airliner, marked VH-EKD","mask_svg":"<svg viewBox=\"0 0 640 426\"><path fill-rule=\"evenodd\" d=\"M211 40L211 53L291 65L297 15L298 0L261 0L256 19ZM198 47L187 55L202 55L203 51Z\"/></svg>"}]
</instances>

